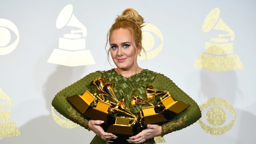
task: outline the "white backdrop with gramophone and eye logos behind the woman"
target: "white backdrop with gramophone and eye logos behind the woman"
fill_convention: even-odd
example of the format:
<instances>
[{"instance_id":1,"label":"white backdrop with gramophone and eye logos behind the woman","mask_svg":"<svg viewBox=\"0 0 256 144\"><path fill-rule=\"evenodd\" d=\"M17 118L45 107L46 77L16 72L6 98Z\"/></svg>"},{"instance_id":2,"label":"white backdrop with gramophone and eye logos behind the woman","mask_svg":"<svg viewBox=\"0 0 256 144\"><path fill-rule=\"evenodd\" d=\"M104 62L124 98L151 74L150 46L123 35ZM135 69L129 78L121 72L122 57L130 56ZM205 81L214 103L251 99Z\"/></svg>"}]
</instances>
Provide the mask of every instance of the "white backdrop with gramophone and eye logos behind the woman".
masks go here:
<instances>
[{"instance_id":1,"label":"white backdrop with gramophone and eye logos behind the woman","mask_svg":"<svg viewBox=\"0 0 256 144\"><path fill-rule=\"evenodd\" d=\"M64 9L67 5L69 9ZM51 111L51 100L83 76L113 68L106 63L106 34L116 15L128 7L151 24L144 30L144 47L147 53L156 52L152 58L148 55L146 61L139 60L140 67L172 79L202 110L200 122L165 135L165 143L255 142L256 1L1 0L0 143L91 141L93 132L69 124L60 115L56 117L56 111ZM219 15L212 10L219 10ZM61 19L62 12L67 13ZM218 34L229 34L226 26L221 26L225 31L203 31L210 14L217 15L216 23L223 20L234 32L219 37L228 41L213 42ZM70 20L71 17L78 21ZM56 27L57 18L63 26ZM65 18L73 23L67 24ZM86 36L81 32L71 34L72 29L85 33L84 28ZM78 35L82 36L75 42L67 41L69 36ZM59 42L60 38L64 42ZM155 43L149 43L152 39ZM224 50L218 55L206 51L206 42L233 43L233 51ZM221 51L222 47L212 48ZM52 54L54 50L57 51ZM65 54L68 56L60 60ZM206 59L201 59L201 65L194 65L202 54ZM210 57L216 59L207 59Z\"/></svg>"}]
</instances>

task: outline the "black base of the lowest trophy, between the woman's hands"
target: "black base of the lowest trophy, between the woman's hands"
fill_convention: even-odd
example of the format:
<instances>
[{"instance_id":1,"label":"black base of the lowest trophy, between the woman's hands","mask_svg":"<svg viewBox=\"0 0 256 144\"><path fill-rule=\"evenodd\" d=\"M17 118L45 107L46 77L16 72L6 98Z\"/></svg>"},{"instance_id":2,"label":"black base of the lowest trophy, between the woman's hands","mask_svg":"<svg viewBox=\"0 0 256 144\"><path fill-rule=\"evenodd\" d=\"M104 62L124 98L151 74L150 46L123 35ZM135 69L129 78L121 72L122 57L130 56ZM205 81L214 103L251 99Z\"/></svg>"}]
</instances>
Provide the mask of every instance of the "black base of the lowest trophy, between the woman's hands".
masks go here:
<instances>
[{"instance_id":1,"label":"black base of the lowest trophy, between the woman's hands","mask_svg":"<svg viewBox=\"0 0 256 144\"><path fill-rule=\"evenodd\" d=\"M113 140L113 144L129 144L127 140L133 136L131 126L110 125L107 132L115 134L118 137Z\"/></svg>"}]
</instances>

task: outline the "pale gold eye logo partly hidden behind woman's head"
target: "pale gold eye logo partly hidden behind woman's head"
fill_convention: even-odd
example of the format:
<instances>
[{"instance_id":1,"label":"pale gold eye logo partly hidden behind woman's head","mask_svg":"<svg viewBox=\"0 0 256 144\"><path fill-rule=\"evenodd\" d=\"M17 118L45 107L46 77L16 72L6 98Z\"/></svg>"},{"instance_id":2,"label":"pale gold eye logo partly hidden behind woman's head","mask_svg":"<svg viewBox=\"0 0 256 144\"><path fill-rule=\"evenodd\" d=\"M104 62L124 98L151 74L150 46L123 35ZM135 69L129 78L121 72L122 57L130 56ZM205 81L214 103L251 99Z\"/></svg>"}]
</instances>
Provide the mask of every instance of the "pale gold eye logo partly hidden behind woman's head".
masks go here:
<instances>
[{"instance_id":1,"label":"pale gold eye logo partly hidden behind woman's head","mask_svg":"<svg viewBox=\"0 0 256 144\"><path fill-rule=\"evenodd\" d=\"M151 23L146 23L141 30L143 35L142 46L145 51L141 51L141 57L138 58L146 60L156 57L162 50L164 44L164 38L161 31ZM155 46L155 37L153 34L157 35L161 40L161 44L154 50L152 50ZM146 53L146 55L144 53Z\"/></svg>"}]
</instances>

